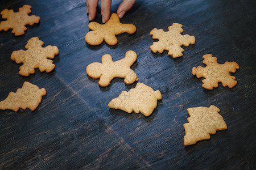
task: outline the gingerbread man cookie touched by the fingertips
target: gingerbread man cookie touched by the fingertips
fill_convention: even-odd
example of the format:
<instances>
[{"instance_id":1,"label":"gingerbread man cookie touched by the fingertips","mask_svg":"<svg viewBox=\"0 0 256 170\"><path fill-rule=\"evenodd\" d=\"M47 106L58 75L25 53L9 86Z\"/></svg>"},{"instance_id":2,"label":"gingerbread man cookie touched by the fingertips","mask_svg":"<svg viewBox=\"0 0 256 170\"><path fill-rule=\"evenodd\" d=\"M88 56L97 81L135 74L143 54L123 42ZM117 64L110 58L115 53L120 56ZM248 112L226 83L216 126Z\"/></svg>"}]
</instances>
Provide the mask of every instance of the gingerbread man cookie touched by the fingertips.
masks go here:
<instances>
[{"instance_id":1,"label":"gingerbread man cookie touched by the fingertips","mask_svg":"<svg viewBox=\"0 0 256 170\"><path fill-rule=\"evenodd\" d=\"M115 45L117 44L115 35L125 32L132 34L136 31L133 24L120 23L118 15L114 13L105 24L91 22L88 27L93 30L85 35L85 41L90 45L100 45L103 40L109 45Z\"/></svg>"}]
</instances>

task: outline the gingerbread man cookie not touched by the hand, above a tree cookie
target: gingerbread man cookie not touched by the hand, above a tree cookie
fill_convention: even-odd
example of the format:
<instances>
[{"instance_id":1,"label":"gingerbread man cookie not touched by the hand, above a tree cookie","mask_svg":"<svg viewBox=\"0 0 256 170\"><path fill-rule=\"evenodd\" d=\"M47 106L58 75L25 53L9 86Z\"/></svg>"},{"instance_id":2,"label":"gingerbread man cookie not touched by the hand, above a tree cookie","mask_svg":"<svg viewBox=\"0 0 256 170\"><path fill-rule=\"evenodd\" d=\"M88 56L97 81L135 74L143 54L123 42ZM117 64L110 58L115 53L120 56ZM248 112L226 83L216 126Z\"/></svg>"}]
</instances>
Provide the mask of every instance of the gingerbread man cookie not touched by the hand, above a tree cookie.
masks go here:
<instances>
[{"instance_id":1,"label":"gingerbread man cookie not touched by the hand, above a tree cookie","mask_svg":"<svg viewBox=\"0 0 256 170\"><path fill-rule=\"evenodd\" d=\"M137 75L130 69L136 59L137 54L132 50L126 52L125 58L115 62L109 54L105 54L101 58L102 63L90 63L86 67L86 73L93 79L100 78L98 84L101 87L109 86L110 81L115 77L125 78L125 83L131 84L138 80Z\"/></svg>"}]
</instances>

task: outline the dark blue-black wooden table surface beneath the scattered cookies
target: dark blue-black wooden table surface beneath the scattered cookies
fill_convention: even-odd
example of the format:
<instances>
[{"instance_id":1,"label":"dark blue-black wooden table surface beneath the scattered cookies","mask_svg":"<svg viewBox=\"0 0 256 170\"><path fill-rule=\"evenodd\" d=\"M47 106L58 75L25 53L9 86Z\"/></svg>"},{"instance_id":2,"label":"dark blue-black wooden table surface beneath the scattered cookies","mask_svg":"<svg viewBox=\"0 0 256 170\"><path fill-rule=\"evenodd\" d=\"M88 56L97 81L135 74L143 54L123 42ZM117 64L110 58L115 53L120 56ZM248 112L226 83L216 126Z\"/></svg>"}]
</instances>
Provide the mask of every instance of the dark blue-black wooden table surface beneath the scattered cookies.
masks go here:
<instances>
[{"instance_id":1,"label":"dark blue-black wooden table surface beneath the scattered cookies","mask_svg":"<svg viewBox=\"0 0 256 170\"><path fill-rule=\"evenodd\" d=\"M120 1L113 1L112 12ZM23 36L0 32L0 100L24 81L46 88L47 95L34 111L0 111L0 169L255 169L255 65L256 3L245 1L140 1L121 19L137 32L117 36L118 44L90 46L86 3L77 1L0 2L0 10L24 4L40 23L28 26ZM3 19L1 19L3 20ZM101 23L100 9L97 22ZM152 53L153 28L183 24L184 34L196 37L184 47L184 56L167 51ZM57 45L55 70L23 77L11 61L14 50L38 36L45 45ZM132 69L139 82L160 90L163 99L150 117L109 109L108 102L134 88L115 78L110 86L86 75L86 66L100 62L104 54L116 61L134 50L138 59ZM202 79L191 74L211 53L219 63L235 61L232 74L238 84L229 89L219 84L209 91ZM228 129L196 145L183 145L187 108L220 108Z\"/></svg>"}]
</instances>

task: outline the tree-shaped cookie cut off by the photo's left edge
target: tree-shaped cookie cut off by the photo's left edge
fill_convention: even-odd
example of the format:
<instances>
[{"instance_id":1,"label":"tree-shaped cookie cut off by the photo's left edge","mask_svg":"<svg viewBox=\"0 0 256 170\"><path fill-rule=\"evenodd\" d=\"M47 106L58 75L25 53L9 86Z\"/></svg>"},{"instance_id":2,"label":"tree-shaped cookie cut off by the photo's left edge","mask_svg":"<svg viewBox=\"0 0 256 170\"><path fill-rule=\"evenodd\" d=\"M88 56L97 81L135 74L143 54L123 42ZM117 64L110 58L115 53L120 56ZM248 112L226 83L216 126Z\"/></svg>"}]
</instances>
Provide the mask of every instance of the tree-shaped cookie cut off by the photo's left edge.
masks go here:
<instances>
[{"instance_id":1,"label":"tree-shaped cookie cut off by the photo's left edge","mask_svg":"<svg viewBox=\"0 0 256 170\"><path fill-rule=\"evenodd\" d=\"M23 110L28 108L34 111L41 103L42 96L45 95L46 90L44 88L40 89L34 84L24 82L22 88L18 88L15 93L10 92L5 100L0 101L0 109L10 109L17 112L19 108Z\"/></svg>"}]
</instances>

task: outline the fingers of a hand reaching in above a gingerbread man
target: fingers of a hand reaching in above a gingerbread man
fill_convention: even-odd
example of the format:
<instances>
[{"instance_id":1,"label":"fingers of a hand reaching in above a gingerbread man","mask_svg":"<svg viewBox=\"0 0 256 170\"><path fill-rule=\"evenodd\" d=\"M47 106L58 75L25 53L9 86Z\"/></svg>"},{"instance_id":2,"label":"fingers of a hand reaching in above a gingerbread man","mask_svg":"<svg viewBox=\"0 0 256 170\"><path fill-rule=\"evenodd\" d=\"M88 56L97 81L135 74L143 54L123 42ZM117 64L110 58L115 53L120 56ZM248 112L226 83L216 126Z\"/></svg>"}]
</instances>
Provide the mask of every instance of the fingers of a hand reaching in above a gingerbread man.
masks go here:
<instances>
[{"instance_id":1,"label":"fingers of a hand reaching in above a gingerbread man","mask_svg":"<svg viewBox=\"0 0 256 170\"><path fill-rule=\"evenodd\" d=\"M117 8L117 15L119 18L123 18L125 12L129 11L134 5L136 0L123 0L123 2ZM101 0L101 15L102 23L105 23L110 18L110 7L112 0ZM93 20L96 16L96 10L98 6L98 0L86 0L87 14L89 21Z\"/></svg>"}]
</instances>

